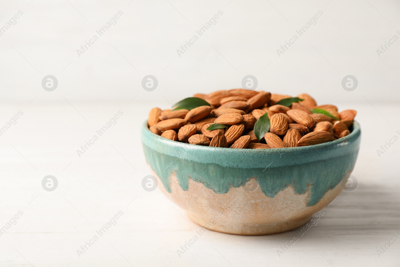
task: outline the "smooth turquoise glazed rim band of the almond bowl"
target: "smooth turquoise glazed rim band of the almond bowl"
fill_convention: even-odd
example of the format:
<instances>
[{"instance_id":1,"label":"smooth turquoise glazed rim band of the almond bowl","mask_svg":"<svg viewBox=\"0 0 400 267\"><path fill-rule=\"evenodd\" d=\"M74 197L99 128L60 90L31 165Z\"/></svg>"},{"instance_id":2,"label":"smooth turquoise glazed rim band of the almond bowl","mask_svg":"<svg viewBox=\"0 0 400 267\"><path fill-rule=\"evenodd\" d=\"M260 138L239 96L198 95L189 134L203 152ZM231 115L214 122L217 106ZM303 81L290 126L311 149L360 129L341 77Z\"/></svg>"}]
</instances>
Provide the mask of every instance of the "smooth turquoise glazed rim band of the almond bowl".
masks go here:
<instances>
[{"instance_id":1,"label":"smooth turquoise glazed rim band of the almond bowl","mask_svg":"<svg viewBox=\"0 0 400 267\"><path fill-rule=\"evenodd\" d=\"M230 149L191 145L166 139L151 132L146 120L142 125L142 143L154 151L172 157L222 167L265 168L265 163L270 163L270 167L282 167L346 155L349 149L358 150L360 124L354 121L352 128L350 135L318 145L278 149ZM265 162L262 159L265 159Z\"/></svg>"}]
</instances>

